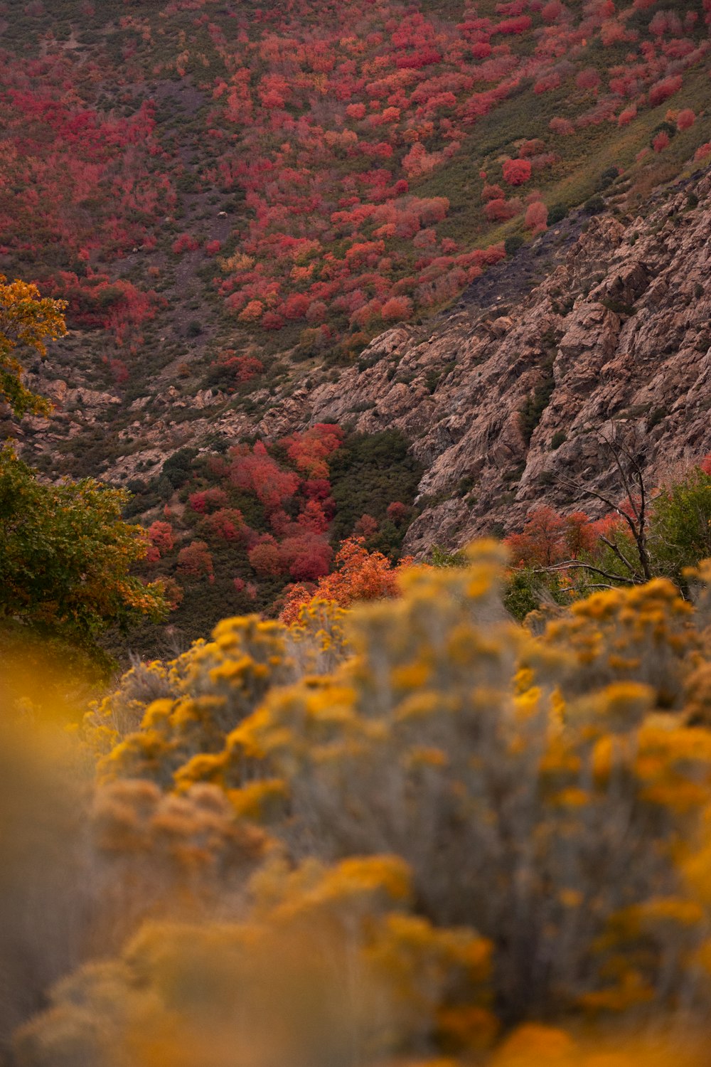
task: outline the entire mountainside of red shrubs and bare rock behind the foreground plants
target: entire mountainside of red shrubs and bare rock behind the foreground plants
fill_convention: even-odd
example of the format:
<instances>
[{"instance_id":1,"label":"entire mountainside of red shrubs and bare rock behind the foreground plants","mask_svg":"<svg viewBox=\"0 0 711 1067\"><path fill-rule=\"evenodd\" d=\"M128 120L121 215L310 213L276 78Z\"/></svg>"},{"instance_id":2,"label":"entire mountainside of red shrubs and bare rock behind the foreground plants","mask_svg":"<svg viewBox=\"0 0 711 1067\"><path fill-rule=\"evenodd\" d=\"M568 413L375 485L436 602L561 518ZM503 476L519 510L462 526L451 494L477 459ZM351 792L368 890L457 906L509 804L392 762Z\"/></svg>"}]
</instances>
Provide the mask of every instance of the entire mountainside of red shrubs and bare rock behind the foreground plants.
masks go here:
<instances>
[{"instance_id":1,"label":"entire mountainside of red shrubs and bare rock behind the foreground plants","mask_svg":"<svg viewBox=\"0 0 711 1067\"><path fill-rule=\"evenodd\" d=\"M708 292L708 0L1 17L0 269L70 327L34 368L52 418L3 429L49 478L135 494L188 636L273 609L358 523L395 557L565 505L552 468L594 478L586 430L611 417L651 431L652 466L708 449L702 401L680 407ZM285 441L333 421L309 488ZM232 471L255 449L278 506ZM277 552L255 568L258 543Z\"/></svg>"}]
</instances>

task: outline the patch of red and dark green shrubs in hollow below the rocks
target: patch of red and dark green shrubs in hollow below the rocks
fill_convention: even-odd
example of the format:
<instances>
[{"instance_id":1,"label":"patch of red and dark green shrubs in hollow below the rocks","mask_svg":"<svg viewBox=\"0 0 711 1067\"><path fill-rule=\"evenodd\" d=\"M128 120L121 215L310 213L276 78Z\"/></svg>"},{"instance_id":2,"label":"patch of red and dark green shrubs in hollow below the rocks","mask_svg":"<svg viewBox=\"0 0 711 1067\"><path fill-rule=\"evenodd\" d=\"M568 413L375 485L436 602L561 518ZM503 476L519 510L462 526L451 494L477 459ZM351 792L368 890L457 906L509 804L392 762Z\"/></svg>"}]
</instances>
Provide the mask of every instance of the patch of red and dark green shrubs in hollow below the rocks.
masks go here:
<instances>
[{"instance_id":1,"label":"patch of red and dark green shrubs in hollow below the rocks","mask_svg":"<svg viewBox=\"0 0 711 1067\"><path fill-rule=\"evenodd\" d=\"M226 610L275 615L285 595L308 599L350 537L397 562L419 476L398 431L316 424L276 441L175 452L149 481L130 483L125 514L143 515L142 573L166 585L171 626L191 640ZM157 635L144 627L132 640L151 653Z\"/></svg>"}]
</instances>

